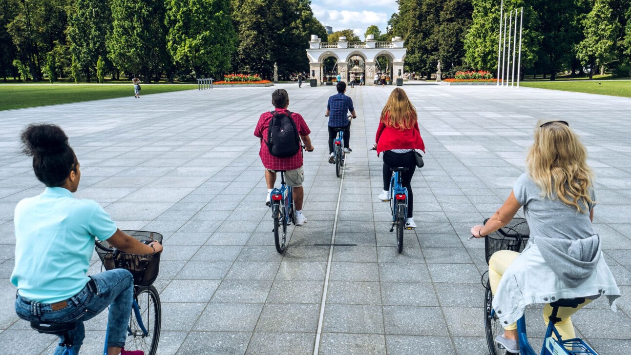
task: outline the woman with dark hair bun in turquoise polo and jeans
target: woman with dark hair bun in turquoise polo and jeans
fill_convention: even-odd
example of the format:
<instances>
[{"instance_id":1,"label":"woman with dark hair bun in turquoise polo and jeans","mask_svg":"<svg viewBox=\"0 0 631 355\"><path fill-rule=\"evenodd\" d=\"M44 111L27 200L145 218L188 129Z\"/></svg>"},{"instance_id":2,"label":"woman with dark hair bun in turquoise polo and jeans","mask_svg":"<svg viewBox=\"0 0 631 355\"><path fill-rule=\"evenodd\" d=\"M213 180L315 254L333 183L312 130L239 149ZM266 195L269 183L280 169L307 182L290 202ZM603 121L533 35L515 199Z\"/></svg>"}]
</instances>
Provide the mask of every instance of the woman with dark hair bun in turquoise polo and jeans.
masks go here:
<instances>
[{"instance_id":1,"label":"woman with dark hair bun in turquoise polo and jeans","mask_svg":"<svg viewBox=\"0 0 631 355\"><path fill-rule=\"evenodd\" d=\"M73 197L81 178L80 165L68 136L57 125L30 125L21 140L24 152L33 156L35 176L46 189L15 208L11 282L18 288L16 313L28 321L76 322L71 336L78 354L85 338L83 322L109 306L108 355L141 355L141 351L121 349L131 315L131 273L115 269L87 276L87 272L94 238L136 254L162 252L162 245L145 245L122 233L97 202ZM55 354L63 351L57 347Z\"/></svg>"}]
</instances>

